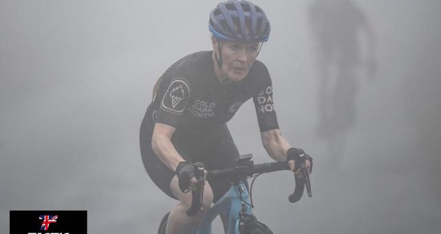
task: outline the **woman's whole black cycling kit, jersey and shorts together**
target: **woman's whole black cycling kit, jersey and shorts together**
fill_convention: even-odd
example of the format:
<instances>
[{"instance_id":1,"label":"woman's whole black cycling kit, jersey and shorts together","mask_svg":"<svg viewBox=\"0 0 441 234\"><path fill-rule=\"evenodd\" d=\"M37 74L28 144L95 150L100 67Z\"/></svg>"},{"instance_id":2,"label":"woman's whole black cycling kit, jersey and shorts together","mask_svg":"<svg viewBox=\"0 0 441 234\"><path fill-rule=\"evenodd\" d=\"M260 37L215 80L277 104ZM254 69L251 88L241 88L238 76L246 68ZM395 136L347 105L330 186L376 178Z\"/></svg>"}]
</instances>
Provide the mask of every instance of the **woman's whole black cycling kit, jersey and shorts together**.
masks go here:
<instances>
[{"instance_id":1,"label":"woman's whole black cycling kit, jersey and shorts together","mask_svg":"<svg viewBox=\"0 0 441 234\"><path fill-rule=\"evenodd\" d=\"M225 169L235 164L239 152L227 128L240 105L253 98L260 131L278 128L267 67L256 61L240 82L220 83L214 73L213 52L196 52L174 63L161 76L140 131L141 157L150 178L175 198L170 182L175 173L152 149L155 123L176 128L170 140L176 151L190 162ZM209 180L216 202L228 190L227 180Z\"/></svg>"}]
</instances>

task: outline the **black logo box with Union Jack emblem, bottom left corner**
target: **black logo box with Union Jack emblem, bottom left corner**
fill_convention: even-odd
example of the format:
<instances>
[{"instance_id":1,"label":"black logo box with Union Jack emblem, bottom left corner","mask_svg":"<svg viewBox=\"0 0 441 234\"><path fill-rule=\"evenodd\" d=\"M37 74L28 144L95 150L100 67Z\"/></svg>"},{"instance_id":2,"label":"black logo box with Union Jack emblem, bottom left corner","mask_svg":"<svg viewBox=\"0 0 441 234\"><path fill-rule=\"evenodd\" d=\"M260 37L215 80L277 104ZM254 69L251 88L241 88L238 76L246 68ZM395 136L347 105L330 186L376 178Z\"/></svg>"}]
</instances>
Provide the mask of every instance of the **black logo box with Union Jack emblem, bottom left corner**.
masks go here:
<instances>
[{"instance_id":1,"label":"black logo box with Union Jack emblem, bottom left corner","mask_svg":"<svg viewBox=\"0 0 441 234\"><path fill-rule=\"evenodd\" d=\"M58 215L57 222L40 230L43 220L41 215ZM88 211L10 211L10 234L28 233L88 233Z\"/></svg>"}]
</instances>

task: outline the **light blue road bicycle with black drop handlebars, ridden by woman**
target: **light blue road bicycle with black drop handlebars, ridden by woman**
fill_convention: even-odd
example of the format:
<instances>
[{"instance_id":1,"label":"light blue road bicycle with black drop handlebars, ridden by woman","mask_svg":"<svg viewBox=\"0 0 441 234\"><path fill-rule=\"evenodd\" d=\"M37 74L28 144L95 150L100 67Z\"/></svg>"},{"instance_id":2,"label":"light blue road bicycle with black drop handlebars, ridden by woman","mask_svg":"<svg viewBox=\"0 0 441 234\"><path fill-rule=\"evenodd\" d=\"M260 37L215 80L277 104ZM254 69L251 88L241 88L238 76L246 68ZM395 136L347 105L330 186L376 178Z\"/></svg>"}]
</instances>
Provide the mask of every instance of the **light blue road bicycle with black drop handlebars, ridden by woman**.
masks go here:
<instances>
[{"instance_id":1,"label":"light blue road bicycle with black drop handlebars, ridden by woman","mask_svg":"<svg viewBox=\"0 0 441 234\"><path fill-rule=\"evenodd\" d=\"M243 228L245 228L245 231L249 231L247 228L253 227L253 224L258 224L258 226L254 226L254 228L272 233L269 228L265 226L265 224L258 222L256 217L253 216L251 198L249 197L248 189L245 185L245 178L252 177L253 175L260 175L261 173L289 170L289 165L287 162L254 164L254 162L250 160L251 156L240 159L241 162L236 167L207 171L206 174L204 173L203 164L197 164L196 162L196 168L198 169L196 170L196 177L198 177L201 185L198 187L198 189L192 191L192 205L189 209L187 209L187 215L193 216L199 212L203 202L201 198L203 198L203 182L205 181L205 176L207 178L216 178L219 176L223 178L227 177L234 181L225 195L223 195L223 197L220 198L220 200L218 200L218 202L216 202L216 204L214 204L209 211L206 211L207 214L203 218L201 224L198 226L198 231L196 231L196 234L211 234L212 222L219 214L223 214L223 217L225 218L223 221L227 222L227 225L225 225L225 231L227 234L239 234L239 230L244 231ZM296 187L294 189L294 193L289 195L289 202L291 203L298 202L298 200L302 198L305 187L307 187L308 196L312 196L309 174L305 167L305 159L302 160L302 158L300 158L298 162L300 163L298 168L302 172L302 177L295 175ZM158 233L165 233L167 218L168 214L163 217L158 229ZM244 226L242 226L242 224L244 224ZM252 231L254 230L255 229Z\"/></svg>"}]
</instances>

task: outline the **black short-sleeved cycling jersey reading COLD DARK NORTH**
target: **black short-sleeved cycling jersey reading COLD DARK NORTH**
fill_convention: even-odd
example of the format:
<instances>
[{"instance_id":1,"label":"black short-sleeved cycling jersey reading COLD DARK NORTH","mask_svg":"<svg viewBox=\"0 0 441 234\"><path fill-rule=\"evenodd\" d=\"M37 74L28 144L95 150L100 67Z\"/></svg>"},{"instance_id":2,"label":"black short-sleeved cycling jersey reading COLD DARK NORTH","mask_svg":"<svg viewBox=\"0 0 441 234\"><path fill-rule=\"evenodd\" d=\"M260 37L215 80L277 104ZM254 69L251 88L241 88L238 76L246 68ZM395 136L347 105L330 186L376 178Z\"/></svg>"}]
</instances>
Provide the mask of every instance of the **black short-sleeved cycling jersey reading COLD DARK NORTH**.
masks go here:
<instances>
[{"instance_id":1,"label":"black short-sleeved cycling jersey reading COLD DARK NORTH","mask_svg":"<svg viewBox=\"0 0 441 234\"><path fill-rule=\"evenodd\" d=\"M278 128L271 78L263 63L256 60L242 81L220 83L212 51L196 52L167 69L149 109L156 123L175 127L175 134L201 136L227 123L250 98L260 131Z\"/></svg>"}]
</instances>

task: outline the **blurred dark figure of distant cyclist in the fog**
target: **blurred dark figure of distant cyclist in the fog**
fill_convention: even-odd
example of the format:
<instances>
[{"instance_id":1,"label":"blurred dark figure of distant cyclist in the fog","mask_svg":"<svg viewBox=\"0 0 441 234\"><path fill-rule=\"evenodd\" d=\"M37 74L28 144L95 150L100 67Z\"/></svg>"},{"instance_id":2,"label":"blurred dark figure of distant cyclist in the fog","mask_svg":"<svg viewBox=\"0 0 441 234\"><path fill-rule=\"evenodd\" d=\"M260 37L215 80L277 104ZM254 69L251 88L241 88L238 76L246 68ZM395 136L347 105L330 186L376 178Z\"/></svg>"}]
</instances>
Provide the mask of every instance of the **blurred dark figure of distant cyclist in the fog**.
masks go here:
<instances>
[{"instance_id":1,"label":"blurred dark figure of distant cyclist in the fog","mask_svg":"<svg viewBox=\"0 0 441 234\"><path fill-rule=\"evenodd\" d=\"M373 32L351 0L313 1L309 23L320 78L317 134L327 140L329 156L339 163L346 133L356 120L360 72L370 77L376 72Z\"/></svg>"}]
</instances>

